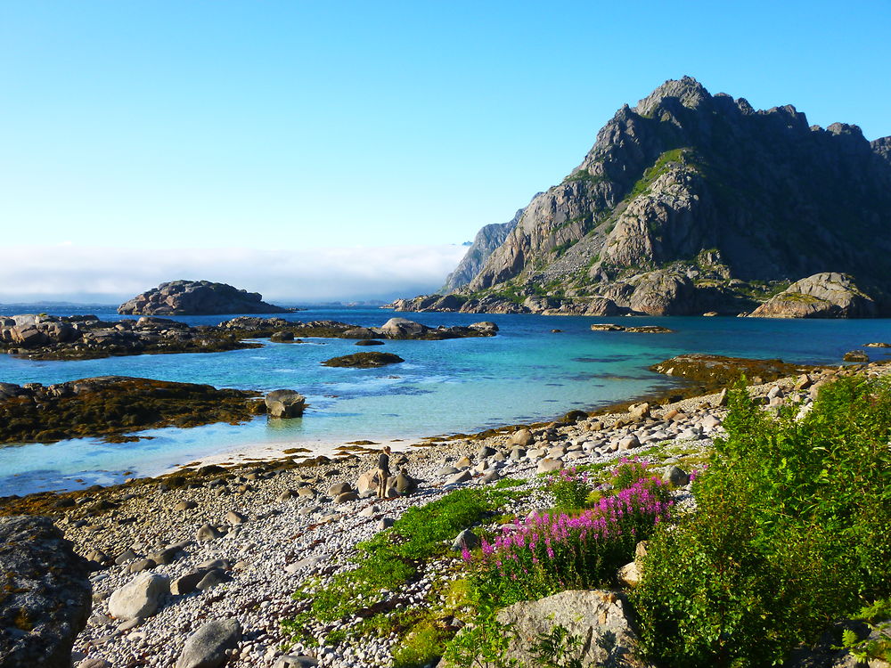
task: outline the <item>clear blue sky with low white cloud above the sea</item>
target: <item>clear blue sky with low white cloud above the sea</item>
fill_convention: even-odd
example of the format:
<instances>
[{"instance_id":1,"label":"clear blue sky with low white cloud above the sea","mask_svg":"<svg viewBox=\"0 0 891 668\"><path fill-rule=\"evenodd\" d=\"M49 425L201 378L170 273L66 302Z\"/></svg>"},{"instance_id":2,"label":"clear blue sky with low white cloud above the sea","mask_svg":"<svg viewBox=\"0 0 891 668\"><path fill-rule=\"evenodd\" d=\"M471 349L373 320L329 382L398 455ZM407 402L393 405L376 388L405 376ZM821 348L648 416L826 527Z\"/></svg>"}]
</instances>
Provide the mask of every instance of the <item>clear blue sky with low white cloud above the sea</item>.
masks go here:
<instances>
[{"instance_id":1,"label":"clear blue sky with low white cloud above the sea","mask_svg":"<svg viewBox=\"0 0 891 668\"><path fill-rule=\"evenodd\" d=\"M0 302L430 291L668 78L891 134L889 22L887 0L4 0Z\"/></svg>"}]
</instances>

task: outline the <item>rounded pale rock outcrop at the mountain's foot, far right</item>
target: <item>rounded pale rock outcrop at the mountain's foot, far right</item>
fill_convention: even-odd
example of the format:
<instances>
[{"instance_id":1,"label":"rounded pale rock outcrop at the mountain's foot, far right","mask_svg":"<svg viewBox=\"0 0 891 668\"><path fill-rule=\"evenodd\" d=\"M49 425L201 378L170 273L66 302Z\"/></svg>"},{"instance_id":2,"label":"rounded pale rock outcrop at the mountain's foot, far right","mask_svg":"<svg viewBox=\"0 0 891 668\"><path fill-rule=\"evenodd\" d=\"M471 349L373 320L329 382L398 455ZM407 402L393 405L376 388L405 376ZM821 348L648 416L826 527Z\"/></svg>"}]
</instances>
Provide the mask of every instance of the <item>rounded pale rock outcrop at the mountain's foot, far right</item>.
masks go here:
<instances>
[{"instance_id":1,"label":"rounded pale rock outcrop at the mountain's foot, far right","mask_svg":"<svg viewBox=\"0 0 891 668\"><path fill-rule=\"evenodd\" d=\"M815 273L792 283L749 314L753 318L873 318L876 301L844 273Z\"/></svg>"}]
</instances>

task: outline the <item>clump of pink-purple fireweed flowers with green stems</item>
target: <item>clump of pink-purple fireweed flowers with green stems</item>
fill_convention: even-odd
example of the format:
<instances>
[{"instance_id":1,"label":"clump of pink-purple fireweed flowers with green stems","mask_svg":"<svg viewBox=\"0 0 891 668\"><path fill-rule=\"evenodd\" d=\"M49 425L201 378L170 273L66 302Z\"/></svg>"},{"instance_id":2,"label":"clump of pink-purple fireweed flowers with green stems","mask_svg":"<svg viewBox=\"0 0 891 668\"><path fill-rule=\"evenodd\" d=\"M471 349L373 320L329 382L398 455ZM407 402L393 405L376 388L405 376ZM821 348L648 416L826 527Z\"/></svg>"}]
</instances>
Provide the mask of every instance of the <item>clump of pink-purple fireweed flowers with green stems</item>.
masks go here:
<instances>
[{"instance_id":1,"label":"clump of pink-purple fireweed flowers with green stems","mask_svg":"<svg viewBox=\"0 0 891 668\"><path fill-rule=\"evenodd\" d=\"M596 586L615 574L668 516L664 483L642 478L577 515L532 515L503 527L478 556L462 551L480 591L507 605L565 589Z\"/></svg>"}]
</instances>

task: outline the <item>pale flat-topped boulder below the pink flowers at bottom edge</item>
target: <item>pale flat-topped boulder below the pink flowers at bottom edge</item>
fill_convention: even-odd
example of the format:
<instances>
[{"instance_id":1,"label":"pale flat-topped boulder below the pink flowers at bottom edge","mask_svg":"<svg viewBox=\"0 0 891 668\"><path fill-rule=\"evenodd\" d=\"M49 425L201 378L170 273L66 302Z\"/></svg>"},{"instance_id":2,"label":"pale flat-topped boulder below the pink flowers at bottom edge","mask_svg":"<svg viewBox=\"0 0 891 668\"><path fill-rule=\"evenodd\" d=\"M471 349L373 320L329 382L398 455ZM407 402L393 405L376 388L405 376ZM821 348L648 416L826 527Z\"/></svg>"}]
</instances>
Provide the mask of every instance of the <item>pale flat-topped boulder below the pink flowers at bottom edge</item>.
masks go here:
<instances>
[{"instance_id":1,"label":"pale flat-topped boulder below the pink flowers at bottom edge","mask_svg":"<svg viewBox=\"0 0 891 668\"><path fill-rule=\"evenodd\" d=\"M538 665L532 646L543 634L562 626L581 640L577 658L587 666L650 668L641 656L628 602L612 591L560 591L545 599L522 601L500 610L497 620L511 624L507 661Z\"/></svg>"}]
</instances>

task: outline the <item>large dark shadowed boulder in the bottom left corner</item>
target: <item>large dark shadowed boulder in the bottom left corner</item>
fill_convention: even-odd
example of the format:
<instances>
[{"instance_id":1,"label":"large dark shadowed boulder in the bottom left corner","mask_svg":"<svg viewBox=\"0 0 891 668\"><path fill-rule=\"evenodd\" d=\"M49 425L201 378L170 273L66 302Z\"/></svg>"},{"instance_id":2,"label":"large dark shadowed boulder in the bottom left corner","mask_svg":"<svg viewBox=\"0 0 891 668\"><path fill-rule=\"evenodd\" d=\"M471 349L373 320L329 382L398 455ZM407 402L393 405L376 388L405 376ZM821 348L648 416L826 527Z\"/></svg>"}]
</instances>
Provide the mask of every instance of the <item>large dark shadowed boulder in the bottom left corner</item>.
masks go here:
<instances>
[{"instance_id":1,"label":"large dark shadowed boulder in the bottom left corner","mask_svg":"<svg viewBox=\"0 0 891 668\"><path fill-rule=\"evenodd\" d=\"M0 517L0 665L69 668L92 608L90 569L47 517Z\"/></svg>"}]
</instances>

